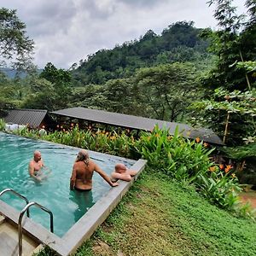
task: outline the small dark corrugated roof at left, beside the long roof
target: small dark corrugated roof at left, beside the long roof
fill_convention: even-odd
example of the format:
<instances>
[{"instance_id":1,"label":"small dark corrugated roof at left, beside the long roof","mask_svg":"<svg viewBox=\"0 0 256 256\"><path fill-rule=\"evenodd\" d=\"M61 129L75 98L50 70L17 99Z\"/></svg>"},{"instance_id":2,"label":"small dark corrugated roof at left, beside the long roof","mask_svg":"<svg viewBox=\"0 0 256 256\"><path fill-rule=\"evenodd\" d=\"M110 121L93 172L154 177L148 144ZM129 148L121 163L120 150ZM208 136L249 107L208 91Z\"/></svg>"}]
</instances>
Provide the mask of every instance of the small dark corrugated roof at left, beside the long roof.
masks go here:
<instances>
[{"instance_id":1,"label":"small dark corrugated roof at left, beside the long roof","mask_svg":"<svg viewBox=\"0 0 256 256\"><path fill-rule=\"evenodd\" d=\"M47 110L44 109L14 109L10 110L4 121L8 124L31 125L38 127L44 120Z\"/></svg>"}]
</instances>

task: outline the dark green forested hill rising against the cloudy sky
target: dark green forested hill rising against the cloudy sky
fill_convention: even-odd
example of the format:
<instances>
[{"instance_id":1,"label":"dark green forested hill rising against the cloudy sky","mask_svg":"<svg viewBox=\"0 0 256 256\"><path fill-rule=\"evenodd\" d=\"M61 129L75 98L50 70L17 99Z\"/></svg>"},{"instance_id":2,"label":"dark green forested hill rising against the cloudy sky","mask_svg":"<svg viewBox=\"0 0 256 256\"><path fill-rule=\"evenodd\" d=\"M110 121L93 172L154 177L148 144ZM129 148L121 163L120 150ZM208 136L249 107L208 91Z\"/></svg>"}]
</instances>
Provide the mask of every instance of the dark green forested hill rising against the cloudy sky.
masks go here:
<instances>
[{"instance_id":1,"label":"dark green forested hill rising against the cloudy sky","mask_svg":"<svg viewBox=\"0 0 256 256\"><path fill-rule=\"evenodd\" d=\"M81 60L79 67L73 65L73 85L103 84L109 79L127 78L140 67L206 61L210 58L209 44L207 39L200 37L201 32L192 21L178 21L160 35L149 30L138 40L113 49L100 49Z\"/></svg>"}]
</instances>

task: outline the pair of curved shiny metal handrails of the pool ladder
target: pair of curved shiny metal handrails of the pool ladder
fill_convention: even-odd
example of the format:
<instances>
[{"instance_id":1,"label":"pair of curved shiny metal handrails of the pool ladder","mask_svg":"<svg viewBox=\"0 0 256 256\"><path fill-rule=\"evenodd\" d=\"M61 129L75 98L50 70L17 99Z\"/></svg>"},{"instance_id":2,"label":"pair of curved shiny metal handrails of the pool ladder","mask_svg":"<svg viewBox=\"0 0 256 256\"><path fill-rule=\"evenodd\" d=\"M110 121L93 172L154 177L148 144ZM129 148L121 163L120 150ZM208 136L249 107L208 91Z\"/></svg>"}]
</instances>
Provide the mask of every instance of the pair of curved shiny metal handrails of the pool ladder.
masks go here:
<instances>
[{"instance_id":1,"label":"pair of curved shiny metal handrails of the pool ladder","mask_svg":"<svg viewBox=\"0 0 256 256\"><path fill-rule=\"evenodd\" d=\"M14 189L3 189L3 191L0 192L0 196L5 194L6 192L11 192L17 196L19 196L21 199L23 199L24 201L26 201L26 207L24 207L21 211L20 211L20 216L19 216L19 222L18 222L18 234L19 234L19 256L22 256L22 218L24 216L24 213L26 212L26 216L27 218L29 218L30 213L29 213L29 208L32 206L38 207L41 210L43 210L44 212L48 212L49 213L49 217L50 217L50 232L54 232L54 225L53 225L53 213L51 211L49 211L47 208L39 205L37 202L29 202L27 200L27 198L24 195L20 195L20 193L16 192Z\"/></svg>"}]
</instances>

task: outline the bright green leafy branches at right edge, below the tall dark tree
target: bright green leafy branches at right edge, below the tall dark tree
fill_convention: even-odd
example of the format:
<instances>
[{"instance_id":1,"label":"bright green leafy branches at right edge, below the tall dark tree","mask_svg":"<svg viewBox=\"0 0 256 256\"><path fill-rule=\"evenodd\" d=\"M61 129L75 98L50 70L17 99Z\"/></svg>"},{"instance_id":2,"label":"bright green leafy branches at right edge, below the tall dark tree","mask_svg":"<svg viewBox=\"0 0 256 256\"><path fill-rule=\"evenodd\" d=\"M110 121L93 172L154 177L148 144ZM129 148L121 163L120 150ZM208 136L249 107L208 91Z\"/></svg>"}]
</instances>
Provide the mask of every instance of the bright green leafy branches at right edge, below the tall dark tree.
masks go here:
<instances>
[{"instance_id":1,"label":"bright green leafy branches at right edge, below the tall dark tree","mask_svg":"<svg viewBox=\"0 0 256 256\"><path fill-rule=\"evenodd\" d=\"M212 99L194 102L191 108L196 109L196 114L207 116L204 124L224 137L228 145L242 144L245 137L255 135L255 90L230 92L219 87Z\"/></svg>"}]
</instances>

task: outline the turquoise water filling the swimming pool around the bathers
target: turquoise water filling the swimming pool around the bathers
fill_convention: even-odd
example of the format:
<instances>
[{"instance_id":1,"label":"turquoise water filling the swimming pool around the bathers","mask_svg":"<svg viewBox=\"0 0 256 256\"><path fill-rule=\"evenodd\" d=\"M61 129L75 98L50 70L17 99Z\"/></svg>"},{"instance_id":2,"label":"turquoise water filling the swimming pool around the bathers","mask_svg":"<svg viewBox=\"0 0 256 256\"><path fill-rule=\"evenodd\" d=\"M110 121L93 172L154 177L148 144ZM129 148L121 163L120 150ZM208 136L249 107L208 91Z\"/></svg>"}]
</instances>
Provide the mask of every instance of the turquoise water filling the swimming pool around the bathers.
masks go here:
<instances>
[{"instance_id":1,"label":"turquoise water filling the swimming pool around the bathers","mask_svg":"<svg viewBox=\"0 0 256 256\"><path fill-rule=\"evenodd\" d=\"M40 150L44 165L52 171L41 183L29 176L27 166L33 152ZM63 236L85 212L92 207L111 187L97 173L93 176L90 192L71 191L69 178L79 148L61 144L35 141L0 132L0 191L15 189L29 201L36 201L54 214L54 229L57 236ZM117 161L131 166L133 161L115 158L108 154L90 152L90 158L108 173L113 171ZM0 198L19 211L26 203L15 195L4 194ZM31 207L31 218L49 229L49 214Z\"/></svg>"}]
</instances>

